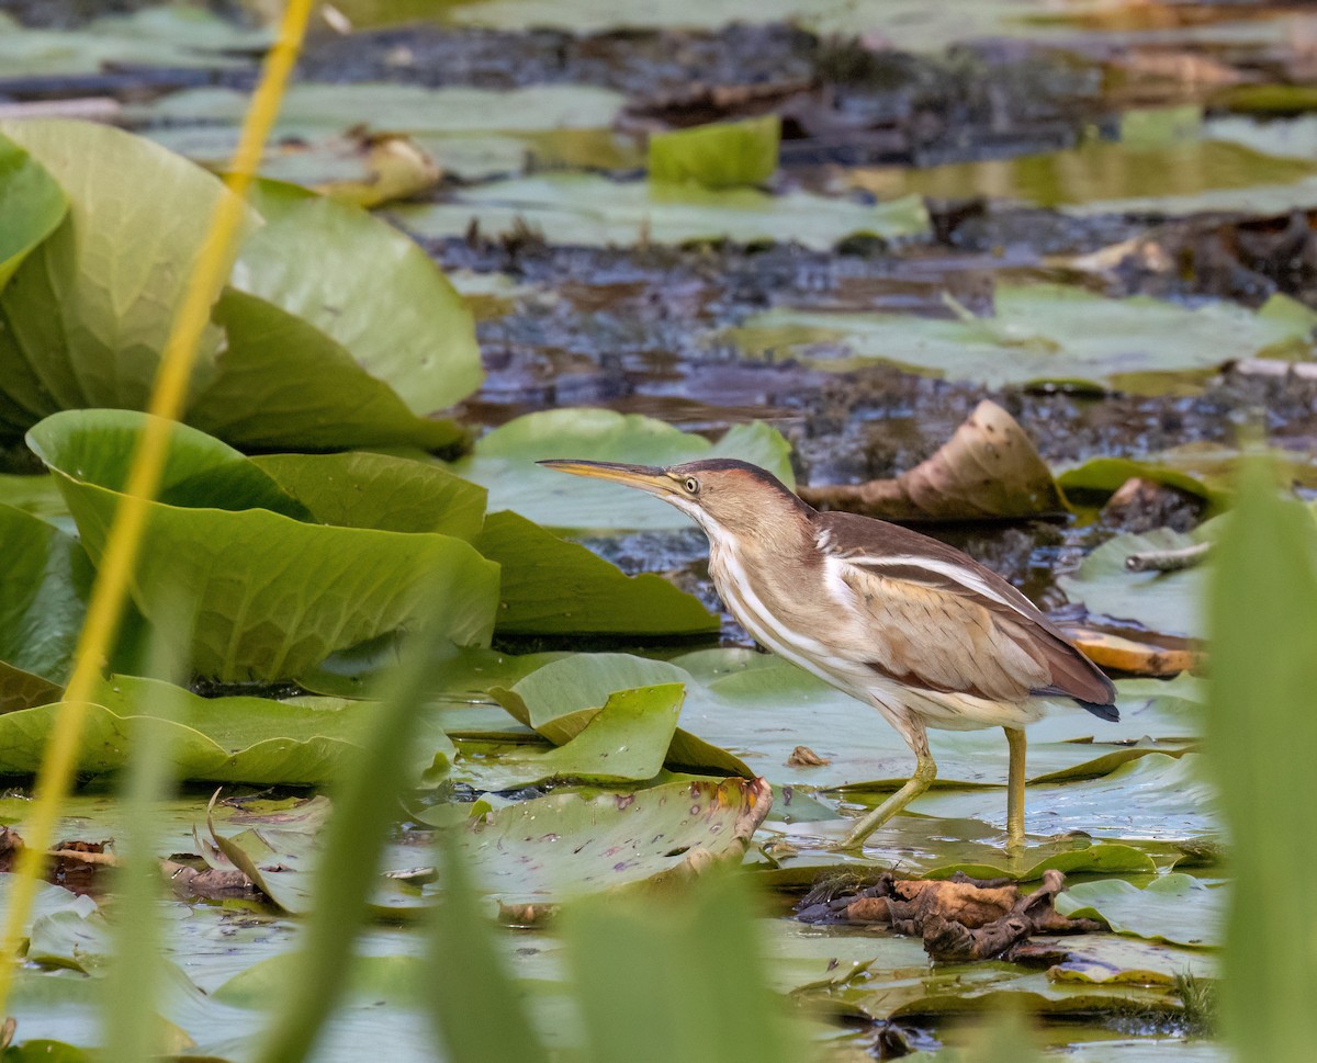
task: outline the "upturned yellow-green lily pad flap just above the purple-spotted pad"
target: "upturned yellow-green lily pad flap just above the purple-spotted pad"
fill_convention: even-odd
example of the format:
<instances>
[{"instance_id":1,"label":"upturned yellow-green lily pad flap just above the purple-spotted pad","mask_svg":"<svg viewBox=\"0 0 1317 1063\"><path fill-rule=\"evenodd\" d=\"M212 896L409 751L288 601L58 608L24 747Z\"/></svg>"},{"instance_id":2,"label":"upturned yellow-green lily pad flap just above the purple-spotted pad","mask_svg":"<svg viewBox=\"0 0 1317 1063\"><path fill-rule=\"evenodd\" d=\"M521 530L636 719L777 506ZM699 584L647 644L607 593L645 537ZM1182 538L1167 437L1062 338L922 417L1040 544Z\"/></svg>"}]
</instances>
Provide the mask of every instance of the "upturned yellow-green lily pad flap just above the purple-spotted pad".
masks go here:
<instances>
[{"instance_id":1,"label":"upturned yellow-green lily pad flap just above the purple-spotted pad","mask_svg":"<svg viewBox=\"0 0 1317 1063\"><path fill-rule=\"evenodd\" d=\"M458 776L482 789L512 789L554 779L583 783L636 783L662 768L677 729L685 688L680 683L616 691L560 746L518 749L481 763L464 759Z\"/></svg>"}]
</instances>

